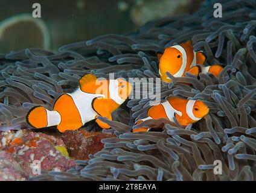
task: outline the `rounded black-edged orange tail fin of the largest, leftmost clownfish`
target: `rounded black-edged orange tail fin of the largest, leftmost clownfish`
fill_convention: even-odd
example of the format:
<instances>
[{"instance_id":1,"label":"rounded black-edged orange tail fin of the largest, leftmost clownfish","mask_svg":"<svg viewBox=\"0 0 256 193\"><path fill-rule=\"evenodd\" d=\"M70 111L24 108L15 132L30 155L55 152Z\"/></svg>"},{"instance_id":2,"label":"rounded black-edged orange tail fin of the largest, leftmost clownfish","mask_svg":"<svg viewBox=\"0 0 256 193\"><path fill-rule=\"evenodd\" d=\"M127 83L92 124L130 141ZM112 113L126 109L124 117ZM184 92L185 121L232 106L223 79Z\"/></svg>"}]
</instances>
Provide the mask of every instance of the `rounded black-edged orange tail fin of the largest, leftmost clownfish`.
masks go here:
<instances>
[{"instance_id":1,"label":"rounded black-edged orange tail fin of the largest, leftmost clownfish","mask_svg":"<svg viewBox=\"0 0 256 193\"><path fill-rule=\"evenodd\" d=\"M47 127L47 112L45 107L36 106L30 109L27 114L27 122L34 128Z\"/></svg>"}]
</instances>

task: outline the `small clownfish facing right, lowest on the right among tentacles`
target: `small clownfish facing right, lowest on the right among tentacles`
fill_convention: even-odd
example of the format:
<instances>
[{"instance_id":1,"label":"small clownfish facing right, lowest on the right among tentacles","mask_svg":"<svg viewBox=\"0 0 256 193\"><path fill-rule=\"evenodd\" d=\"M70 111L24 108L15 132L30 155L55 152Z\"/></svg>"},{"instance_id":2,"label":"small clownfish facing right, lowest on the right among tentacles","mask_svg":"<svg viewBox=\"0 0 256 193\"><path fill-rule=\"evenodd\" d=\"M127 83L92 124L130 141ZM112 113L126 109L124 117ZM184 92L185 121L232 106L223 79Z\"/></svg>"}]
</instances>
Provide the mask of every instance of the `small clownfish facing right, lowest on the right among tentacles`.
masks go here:
<instances>
[{"instance_id":1,"label":"small clownfish facing right, lowest on the right among tentacles","mask_svg":"<svg viewBox=\"0 0 256 193\"><path fill-rule=\"evenodd\" d=\"M177 96L170 96L167 101L154 105L147 111L147 117L136 121L140 124L142 121L149 119L167 118L174 122L175 117L179 124L189 125L199 121L207 115L209 108L200 100L187 100ZM133 132L148 131L150 128L135 128Z\"/></svg>"}]
</instances>

